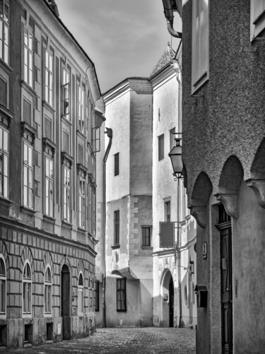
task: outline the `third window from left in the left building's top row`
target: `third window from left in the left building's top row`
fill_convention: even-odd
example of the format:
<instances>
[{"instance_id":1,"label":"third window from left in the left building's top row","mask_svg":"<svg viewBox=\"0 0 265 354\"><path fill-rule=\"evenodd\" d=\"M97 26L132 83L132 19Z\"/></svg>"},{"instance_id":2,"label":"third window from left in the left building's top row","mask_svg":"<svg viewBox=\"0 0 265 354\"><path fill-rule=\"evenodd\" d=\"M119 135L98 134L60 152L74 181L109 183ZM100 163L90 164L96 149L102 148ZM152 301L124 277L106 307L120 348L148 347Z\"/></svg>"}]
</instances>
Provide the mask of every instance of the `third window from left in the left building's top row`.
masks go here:
<instances>
[{"instance_id":1,"label":"third window from left in the left building's top row","mask_svg":"<svg viewBox=\"0 0 265 354\"><path fill-rule=\"evenodd\" d=\"M47 63L48 61L48 63ZM54 53L45 48L45 101L54 106Z\"/></svg>"}]
</instances>

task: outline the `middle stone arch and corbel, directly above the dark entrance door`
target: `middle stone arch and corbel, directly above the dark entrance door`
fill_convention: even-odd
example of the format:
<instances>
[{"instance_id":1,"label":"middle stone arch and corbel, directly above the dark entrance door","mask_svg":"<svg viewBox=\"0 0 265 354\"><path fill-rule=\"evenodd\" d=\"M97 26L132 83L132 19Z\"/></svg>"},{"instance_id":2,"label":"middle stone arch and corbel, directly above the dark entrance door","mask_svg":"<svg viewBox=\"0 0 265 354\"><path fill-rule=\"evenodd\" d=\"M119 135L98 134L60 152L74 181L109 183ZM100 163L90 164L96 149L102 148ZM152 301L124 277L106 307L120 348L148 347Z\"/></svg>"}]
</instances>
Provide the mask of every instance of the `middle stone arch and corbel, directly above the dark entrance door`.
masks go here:
<instances>
[{"instance_id":1,"label":"middle stone arch and corbel, directly above the dark entrance door","mask_svg":"<svg viewBox=\"0 0 265 354\"><path fill-rule=\"evenodd\" d=\"M216 199L223 203L226 213L232 218L238 218L238 193L243 178L244 170L240 160L237 156L231 155L223 165Z\"/></svg>"}]
</instances>

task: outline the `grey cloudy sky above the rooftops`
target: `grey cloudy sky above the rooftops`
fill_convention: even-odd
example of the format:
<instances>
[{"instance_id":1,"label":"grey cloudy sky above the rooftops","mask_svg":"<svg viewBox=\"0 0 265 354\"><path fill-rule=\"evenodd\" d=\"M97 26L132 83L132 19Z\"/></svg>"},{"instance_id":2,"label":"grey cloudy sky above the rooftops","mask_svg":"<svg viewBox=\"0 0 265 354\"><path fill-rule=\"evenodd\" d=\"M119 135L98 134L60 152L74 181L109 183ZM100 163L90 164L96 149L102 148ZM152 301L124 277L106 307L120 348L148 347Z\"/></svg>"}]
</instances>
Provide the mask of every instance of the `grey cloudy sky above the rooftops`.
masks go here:
<instances>
[{"instance_id":1,"label":"grey cloudy sky above the rooftops","mask_svg":"<svg viewBox=\"0 0 265 354\"><path fill-rule=\"evenodd\" d=\"M161 0L56 3L61 20L94 62L102 93L124 78L149 76L171 41ZM173 49L178 44L172 39Z\"/></svg>"}]
</instances>

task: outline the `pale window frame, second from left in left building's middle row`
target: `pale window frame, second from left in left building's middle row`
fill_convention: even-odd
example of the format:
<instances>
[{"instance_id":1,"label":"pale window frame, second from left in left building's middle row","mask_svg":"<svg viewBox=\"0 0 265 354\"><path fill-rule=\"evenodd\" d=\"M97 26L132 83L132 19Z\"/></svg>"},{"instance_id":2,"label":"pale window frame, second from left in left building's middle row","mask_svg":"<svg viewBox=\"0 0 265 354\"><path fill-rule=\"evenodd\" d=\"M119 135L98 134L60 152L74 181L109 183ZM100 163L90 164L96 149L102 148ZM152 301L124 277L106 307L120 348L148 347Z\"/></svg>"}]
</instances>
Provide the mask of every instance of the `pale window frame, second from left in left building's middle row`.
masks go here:
<instances>
[{"instance_id":1,"label":"pale window frame, second from left in left building's middle row","mask_svg":"<svg viewBox=\"0 0 265 354\"><path fill-rule=\"evenodd\" d=\"M25 160L25 146L27 148L27 158L29 156L29 151L31 151L31 165L30 159ZM25 184L25 172L27 178L27 184ZM31 174L31 178L30 178ZM31 187L30 187L31 179ZM34 181L34 167L33 167L33 146L26 141L23 141L23 206L26 208L34 209L34 195L33 195L33 181ZM30 194L31 194L31 205L30 205Z\"/></svg>"}]
</instances>

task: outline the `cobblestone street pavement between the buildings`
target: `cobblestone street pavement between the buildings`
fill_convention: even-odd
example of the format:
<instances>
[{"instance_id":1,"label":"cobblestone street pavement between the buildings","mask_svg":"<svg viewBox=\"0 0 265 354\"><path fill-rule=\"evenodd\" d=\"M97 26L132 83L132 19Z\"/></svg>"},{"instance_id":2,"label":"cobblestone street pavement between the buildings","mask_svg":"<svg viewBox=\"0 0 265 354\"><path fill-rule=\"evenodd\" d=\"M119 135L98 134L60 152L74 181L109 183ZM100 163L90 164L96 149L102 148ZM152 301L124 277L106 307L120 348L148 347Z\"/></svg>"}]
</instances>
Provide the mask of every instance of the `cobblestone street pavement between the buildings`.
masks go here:
<instances>
[{"instance_id":1,"label":"cobblestone street pavement between the buildings","mask_svg":"<svg viewBox=\"0 0 265 354\"><path fill-rule=\"evenodd\" d=\"M97 329L87 338L7 350L6 353L195 354L195 331L157 327Z\"/></svg>"}]
</instances>

